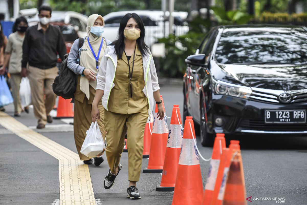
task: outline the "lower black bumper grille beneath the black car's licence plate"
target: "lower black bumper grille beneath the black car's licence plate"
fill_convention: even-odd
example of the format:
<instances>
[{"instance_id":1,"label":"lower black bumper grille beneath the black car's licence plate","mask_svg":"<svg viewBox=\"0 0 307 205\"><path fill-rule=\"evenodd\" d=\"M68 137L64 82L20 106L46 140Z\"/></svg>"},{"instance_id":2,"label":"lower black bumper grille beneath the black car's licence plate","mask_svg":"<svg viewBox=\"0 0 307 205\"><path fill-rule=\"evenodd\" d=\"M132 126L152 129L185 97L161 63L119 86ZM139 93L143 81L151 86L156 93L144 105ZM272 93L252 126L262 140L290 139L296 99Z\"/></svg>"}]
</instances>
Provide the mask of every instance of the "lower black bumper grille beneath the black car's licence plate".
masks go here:
<instances>
[{"instance_id":1,"label":"lower black bumper grille beneath the black car's licence plate","mask_svg":"<svg viewBox=\"0 0 307 205\"><path fill-rule=\"evenodd\" d=\"M242 118L239 124L239 128L263 131L307 131L307 124L266 124L264 119Z\"/></svg>"}]
</instances>

